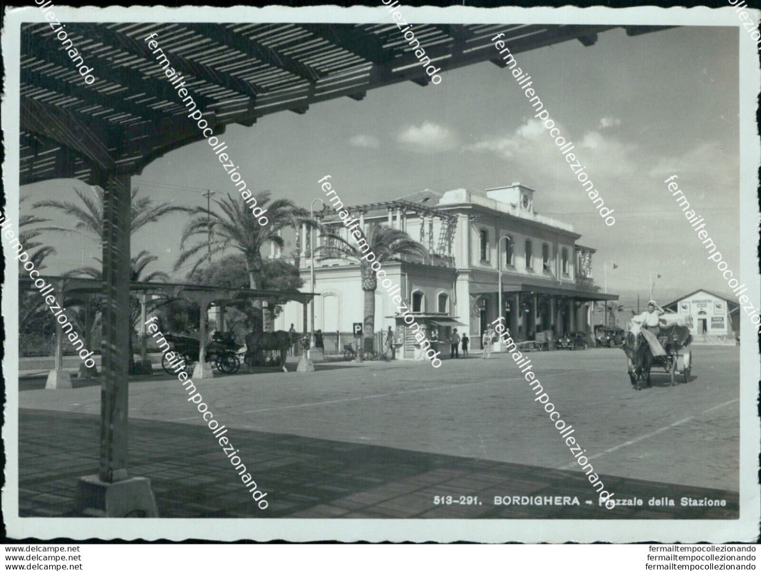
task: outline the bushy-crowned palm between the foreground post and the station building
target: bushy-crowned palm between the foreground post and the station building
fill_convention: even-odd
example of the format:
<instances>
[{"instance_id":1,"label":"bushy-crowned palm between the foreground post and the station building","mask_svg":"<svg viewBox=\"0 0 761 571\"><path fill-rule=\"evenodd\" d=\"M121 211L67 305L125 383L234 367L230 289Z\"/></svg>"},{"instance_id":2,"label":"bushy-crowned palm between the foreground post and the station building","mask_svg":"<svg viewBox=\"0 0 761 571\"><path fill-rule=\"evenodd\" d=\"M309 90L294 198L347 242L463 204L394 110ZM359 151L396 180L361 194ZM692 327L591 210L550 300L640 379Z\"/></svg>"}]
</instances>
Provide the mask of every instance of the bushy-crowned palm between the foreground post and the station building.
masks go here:
<instances>
[{"instance_id":1,"label":"bushy-crowned palm between the foreground post and the station building","mask_svg":"<svg viewBox=\"0 0 761 571\"><path fill-rule=\"evenodd\" d=\"M214 202L219 211L207 211L201 206L193 208L191 211L193 217L183 229L180 240L180 249L183 252L174 264L175 271L189 259L198 256L189 272L192 275L204 262L210 261L213 255L235 249L243 255L250 289L256 290L261 287L263 246L274 243L282 248L285 242L279 236L278 230L299 222L313 224L304 208L299 208L293 201L286 198L270 201L269 196L269 191L256 195L256 204L267 211L269 222L266 226L259 224L244 201L233 198L229 194L227 198L223 196L218 200L215 199ZM185 249L192 238L197 238L199 241ZM253 330L255 332L263 329L262 306L262 300L253 301L255 313Z\"/></svg>"}]
</instances>

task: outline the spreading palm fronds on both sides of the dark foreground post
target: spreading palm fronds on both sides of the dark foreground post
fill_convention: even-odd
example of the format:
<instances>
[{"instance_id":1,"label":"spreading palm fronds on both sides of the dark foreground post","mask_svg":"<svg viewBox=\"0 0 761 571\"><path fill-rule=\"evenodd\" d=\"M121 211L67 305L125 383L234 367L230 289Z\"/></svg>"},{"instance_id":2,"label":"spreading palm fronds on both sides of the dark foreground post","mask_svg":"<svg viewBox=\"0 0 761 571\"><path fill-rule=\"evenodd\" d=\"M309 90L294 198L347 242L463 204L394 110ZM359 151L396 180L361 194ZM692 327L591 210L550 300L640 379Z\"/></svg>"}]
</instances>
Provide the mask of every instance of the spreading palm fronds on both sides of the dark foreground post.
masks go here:
<instances>
[{"instance_id":1,"label":"spreading palm fronds on both sides of the dark foreground post","mask_svg":"<svg viewBox=\"0 0 761 571\"><path fill-rule=\"evenodd\" d=\"M40 230L50 230L51 232L64 232L80 234L93 240L99 246L103 243L103 189L100 186L91 186L94 196L74 189L79 197L81 204L72 201L61 200L43 200L36 202L34 208L55 208L72 217L75 220L74 230L59 226L40 228ZM170 205L169 202L159 202L154 204L150 196L141 196L138 198L140 189L132 189L131 211L129 217L129 235L132 236L142 227L158 222L167 214L172 212L188 212L189 208L184 206Z\"/></svg>"}]
</instances>

